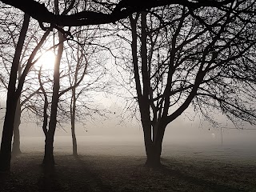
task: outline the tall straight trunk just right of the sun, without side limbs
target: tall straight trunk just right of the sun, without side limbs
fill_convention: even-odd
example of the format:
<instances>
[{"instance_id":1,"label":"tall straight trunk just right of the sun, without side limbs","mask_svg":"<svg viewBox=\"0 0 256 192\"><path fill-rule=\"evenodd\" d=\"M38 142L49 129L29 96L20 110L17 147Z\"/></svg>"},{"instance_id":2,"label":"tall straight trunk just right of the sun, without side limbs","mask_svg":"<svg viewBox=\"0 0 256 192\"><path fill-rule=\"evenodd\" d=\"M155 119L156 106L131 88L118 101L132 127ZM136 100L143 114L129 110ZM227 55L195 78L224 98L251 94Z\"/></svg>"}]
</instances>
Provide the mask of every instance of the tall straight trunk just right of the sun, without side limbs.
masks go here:
<instances>
[{"instance_id":1,"label":"tall straight trunk just right of the sun, without side limbs","mask_svg":"<svg viewBox=\"0 0 256 192\"><path fill-rule=\"evenodd\" d=\"M53 87L53 96L52 96L52 104L50 109L50 122L49 129L46 134L45 140L45 155L43 158L42 164L46 167L54 166L54 134L56 130L57 124L57 111L58 111L58 99L59 99L59 68L63 53L63 41L65 38L61 32L58 32L59 37L59 46L58 53L54 63L54 87Z\"/></svg>"}]
</instances>

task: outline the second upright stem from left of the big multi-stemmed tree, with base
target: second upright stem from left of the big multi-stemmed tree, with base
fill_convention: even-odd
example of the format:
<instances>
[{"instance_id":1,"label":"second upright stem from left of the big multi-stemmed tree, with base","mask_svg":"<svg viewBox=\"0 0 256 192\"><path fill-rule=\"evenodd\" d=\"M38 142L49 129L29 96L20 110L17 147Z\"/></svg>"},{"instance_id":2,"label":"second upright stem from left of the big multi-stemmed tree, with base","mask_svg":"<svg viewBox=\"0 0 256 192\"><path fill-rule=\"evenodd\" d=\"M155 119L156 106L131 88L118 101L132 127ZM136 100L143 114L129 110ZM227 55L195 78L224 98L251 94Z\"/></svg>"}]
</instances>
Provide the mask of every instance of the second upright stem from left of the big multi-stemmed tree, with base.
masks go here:
<instances>
[{"instance_id":1,"label":"second upright stem from left of the big multi-stemmed tree, with base","mask_svg":"<svg viewBox=\"0 0 256 192\"><path fill-rule=\"evenodd\" d=\"M150 61L147 53L147 24L146 12L141 14L141 59L142 59L142 99L140 102L140 112L142 116L142 126L144 131L144 142L146 149L146 166L157 167L161 166L160 156L162 152L162 138L163 134L158 134L158 129L155 129L150 117ZM159 128L159 127L158 127ZM157 132L157 133L155 133Z\"/></svg>"}]
</instances>

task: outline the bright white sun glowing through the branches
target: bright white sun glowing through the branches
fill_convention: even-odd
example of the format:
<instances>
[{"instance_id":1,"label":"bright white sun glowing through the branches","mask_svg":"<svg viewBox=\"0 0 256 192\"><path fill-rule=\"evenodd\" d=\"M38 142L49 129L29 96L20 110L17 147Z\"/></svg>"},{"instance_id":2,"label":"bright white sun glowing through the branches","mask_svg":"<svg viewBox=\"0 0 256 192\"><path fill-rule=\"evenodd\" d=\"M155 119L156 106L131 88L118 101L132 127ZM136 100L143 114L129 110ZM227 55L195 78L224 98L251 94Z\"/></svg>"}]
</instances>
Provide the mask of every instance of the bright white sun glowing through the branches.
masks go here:
<instances>
[{"instance_id":1,"label":"bright white sun glowing through the branches","mask_svg":"<svg viewBox=\"0 0 256 192\"><path fill-rule=\"evenodd\" d=\"M38 59L38 62L35 63L35 66L41 67L42 70L54 70L55 54L53 51L48 50L46 53Z\"/></svg>"}]
</instances>

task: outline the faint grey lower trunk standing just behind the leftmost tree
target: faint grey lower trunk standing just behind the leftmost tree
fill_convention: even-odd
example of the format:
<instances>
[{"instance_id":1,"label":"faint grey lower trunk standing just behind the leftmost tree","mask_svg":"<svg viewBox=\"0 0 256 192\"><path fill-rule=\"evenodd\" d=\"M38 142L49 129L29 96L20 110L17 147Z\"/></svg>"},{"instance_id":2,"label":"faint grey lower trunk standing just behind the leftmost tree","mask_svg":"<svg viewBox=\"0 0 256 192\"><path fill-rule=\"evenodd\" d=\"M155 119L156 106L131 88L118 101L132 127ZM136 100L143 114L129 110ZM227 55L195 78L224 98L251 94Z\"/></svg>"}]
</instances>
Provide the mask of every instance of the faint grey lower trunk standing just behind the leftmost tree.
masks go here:
<instances>
[{"instance_id":1,"label":"faint grey lower trunk standing just behind the leftmost tree","mask_svg":"<svg viewBox=\"0 0 256 192\"><path fill-rule=\"evenodd\" d=\"M19 134L20 124L21 124L21 104L20 104L20 99L18 99L15 119L14 119L14 142L13 142L13 149L12 149L12 155L14 156L22 153L20 149L20 134Z\"/></svg>"}]
</instances>

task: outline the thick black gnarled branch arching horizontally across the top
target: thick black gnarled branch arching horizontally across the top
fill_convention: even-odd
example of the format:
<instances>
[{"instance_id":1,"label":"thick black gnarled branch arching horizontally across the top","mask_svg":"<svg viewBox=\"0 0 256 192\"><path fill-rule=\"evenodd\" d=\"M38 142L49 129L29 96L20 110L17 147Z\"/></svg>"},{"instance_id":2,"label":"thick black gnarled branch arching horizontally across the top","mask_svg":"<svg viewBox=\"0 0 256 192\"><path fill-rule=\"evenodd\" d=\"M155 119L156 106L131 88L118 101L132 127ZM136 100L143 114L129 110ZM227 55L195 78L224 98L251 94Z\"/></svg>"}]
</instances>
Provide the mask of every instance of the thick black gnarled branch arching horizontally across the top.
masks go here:
<instances>
[{"instance_id":1,"label":"thick black gnarled branch arching horizontally across the top","mask_svg":"<svg viewBox=\"0 0 256 192\"><path fill-rule=\"evenodd\" d=\"M97 10L84 10L78 13L65 15L65 14L53 14L47 10L44 4L40 2L35 2L34 0L24 0L18 2L15 0L2 0L1 2L7 5L14 6L26 14L30 14L32 18L38 20L38 22L51 23L54 26L88 26L88 25L98 25L104 23L114 23L122 18L127 18L130 14L134 12L139 12L143 10L148 10L153 7L167 6L167 5L181 5L190 7L196 10L200 7L210 6L218 7L219 9L226 9L226 5L231 2L236 2L235 0L223 0L223 1L188 1L188 0L149 0L146 3L121 0L117 4L114 2L102 3L101 1L94 0L96 7L102 8L102 12ZM137 4L137 5L136 5ZM31 9L33 7L33 9ZM113 7L110 9L104 9L106 7Z\"/></svg>"}]
</instances>

